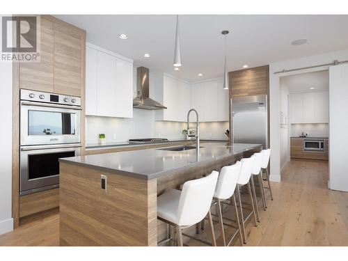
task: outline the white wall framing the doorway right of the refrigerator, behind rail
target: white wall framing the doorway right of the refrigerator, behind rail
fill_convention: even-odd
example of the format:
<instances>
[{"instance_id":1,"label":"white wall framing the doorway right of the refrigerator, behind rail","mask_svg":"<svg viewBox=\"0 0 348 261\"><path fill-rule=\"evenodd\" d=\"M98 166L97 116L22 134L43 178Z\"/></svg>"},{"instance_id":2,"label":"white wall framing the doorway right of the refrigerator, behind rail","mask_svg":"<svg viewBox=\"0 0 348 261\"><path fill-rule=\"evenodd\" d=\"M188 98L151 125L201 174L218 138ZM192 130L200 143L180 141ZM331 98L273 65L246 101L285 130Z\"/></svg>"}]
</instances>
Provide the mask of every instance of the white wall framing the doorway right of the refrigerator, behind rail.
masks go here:
<instances>
[{"instance_id":1,"label":"white wall framing the doorway right of the refrigerator, behind rail","mask_svg":"<svg viewBox=\"0 0 348 261\"><path fill-rule=\"evenodd\" d=\"M334 60L348 60L348 49L339 52L330 52L317 56L297 58L290 61L281 61L269 65L269 106L270 106L270 145L271 145L271 175L270 180L280 182L280 77L299 74L305 72L315 72L317 70L327 70L328 66L322 68L312 68L307 70L274 74L281 70L303 68L313 65L332 63Z\"/></svg>"}]
</instances>

